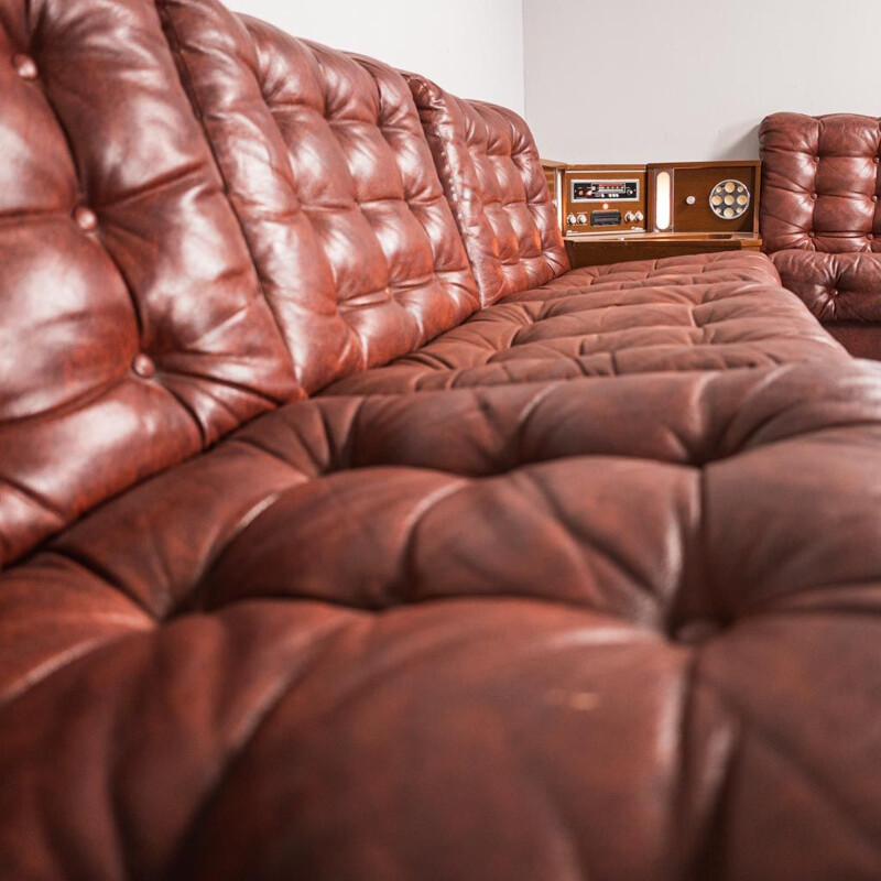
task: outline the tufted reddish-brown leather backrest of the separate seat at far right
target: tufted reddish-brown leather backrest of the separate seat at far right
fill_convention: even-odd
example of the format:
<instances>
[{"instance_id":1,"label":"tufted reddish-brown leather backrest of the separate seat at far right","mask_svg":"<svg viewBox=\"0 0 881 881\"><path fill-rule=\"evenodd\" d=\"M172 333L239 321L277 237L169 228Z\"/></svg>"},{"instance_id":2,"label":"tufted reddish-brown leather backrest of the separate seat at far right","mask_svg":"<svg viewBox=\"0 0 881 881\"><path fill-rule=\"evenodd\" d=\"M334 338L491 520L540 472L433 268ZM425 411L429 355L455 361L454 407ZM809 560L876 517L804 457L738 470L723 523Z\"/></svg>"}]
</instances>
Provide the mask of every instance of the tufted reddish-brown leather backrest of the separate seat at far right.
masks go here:
<instances>
[{"instance_id":1,"label":"tufted reddish-brown leather backrest of the separate seat at far right","mask_svg":"<svg viewBox=\"0 0 881 881\"><path fill-rule=\"evenodd\" d=\"M881 250L881 120L775 113L760 129L765 250Z\"/></svg>"}]
</instances>

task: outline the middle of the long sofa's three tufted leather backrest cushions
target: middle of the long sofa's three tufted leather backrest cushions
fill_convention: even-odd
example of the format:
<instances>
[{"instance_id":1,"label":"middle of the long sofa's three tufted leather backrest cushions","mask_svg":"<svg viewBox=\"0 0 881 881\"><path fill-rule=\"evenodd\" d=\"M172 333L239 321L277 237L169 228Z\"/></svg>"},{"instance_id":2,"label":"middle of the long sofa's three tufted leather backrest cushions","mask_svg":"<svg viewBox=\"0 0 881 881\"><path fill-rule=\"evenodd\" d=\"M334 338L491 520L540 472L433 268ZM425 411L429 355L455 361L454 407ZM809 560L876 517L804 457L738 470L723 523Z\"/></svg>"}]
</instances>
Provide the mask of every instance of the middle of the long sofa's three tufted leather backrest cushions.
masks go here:
<instances>
[{"instance_id":1,"label":"middle of the long sofa's three tufted leather backrest cushions","mask_svg":"<svg viewBox=\"0 0 881 881\"><path fill-rule=\"evenodd\" d=\"M477 308L400 74L215 0L161 8L304 388L410 352Z\"/></svg>"}]
</instances>

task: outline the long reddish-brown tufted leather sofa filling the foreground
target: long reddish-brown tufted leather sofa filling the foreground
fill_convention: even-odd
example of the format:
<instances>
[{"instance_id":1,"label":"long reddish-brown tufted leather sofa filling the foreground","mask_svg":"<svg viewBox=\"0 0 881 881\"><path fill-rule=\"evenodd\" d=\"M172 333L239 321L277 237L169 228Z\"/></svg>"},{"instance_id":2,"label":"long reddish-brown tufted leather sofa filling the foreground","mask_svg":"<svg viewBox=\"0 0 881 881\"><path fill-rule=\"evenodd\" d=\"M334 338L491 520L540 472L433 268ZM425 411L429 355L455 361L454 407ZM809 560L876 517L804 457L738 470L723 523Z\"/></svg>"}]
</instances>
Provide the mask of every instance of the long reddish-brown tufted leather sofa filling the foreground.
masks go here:
<instances>
[{"instance_id":1,"label":"long reddish-brown tufted leather sofa filling the foreground","mask_svg":"<svg viewBox=\"0 0 881 881\"><path fill-rule=\"evenodd\" d=\"M569 271L525 124L0 0L0 878L874 879L881 368Z\"/></svg>"}]
</instances>

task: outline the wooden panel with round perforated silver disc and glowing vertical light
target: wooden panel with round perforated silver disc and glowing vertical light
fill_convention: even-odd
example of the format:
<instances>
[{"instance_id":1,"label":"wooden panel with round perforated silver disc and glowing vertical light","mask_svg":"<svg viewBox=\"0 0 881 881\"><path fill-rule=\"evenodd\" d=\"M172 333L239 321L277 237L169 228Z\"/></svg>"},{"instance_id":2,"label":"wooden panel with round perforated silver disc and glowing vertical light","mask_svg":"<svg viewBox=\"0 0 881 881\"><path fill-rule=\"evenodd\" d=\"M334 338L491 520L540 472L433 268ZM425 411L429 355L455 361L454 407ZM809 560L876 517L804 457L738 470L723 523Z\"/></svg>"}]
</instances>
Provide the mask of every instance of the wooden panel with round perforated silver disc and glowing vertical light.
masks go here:
<instances>
[{"instance_id":1,"label":"wooden panel with round perforated silver disc and glowing vertical light","mask_svg":"<svg viewBox=\"0 0 881 881\"><path fill-rule=\"evenodd\" d=\"M648 166L652 232L759 231L760 162Z\"/></svg>"}]
</instances>

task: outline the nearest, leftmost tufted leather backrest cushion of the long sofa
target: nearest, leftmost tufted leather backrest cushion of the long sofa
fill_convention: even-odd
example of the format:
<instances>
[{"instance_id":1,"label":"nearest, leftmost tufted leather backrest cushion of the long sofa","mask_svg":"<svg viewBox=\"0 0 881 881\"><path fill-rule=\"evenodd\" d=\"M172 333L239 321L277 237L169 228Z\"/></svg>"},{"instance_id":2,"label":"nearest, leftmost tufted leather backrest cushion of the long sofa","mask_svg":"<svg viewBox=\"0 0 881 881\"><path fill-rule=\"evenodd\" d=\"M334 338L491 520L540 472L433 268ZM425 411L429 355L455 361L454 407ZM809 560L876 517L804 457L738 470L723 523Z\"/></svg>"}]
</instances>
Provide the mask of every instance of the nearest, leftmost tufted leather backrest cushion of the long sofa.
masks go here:
<instances>
[{"instance_id":1,"label":"nearest, leftmost tufted leather backrest cushion of the long sofa","mask_svg":"<svg viewBox=\"0 0 881 881\"><path fill-rule=\"evenodd\" d=\"M0 0L0 565L296 388L146 0Z\"/></svg>"}]
</instances>

